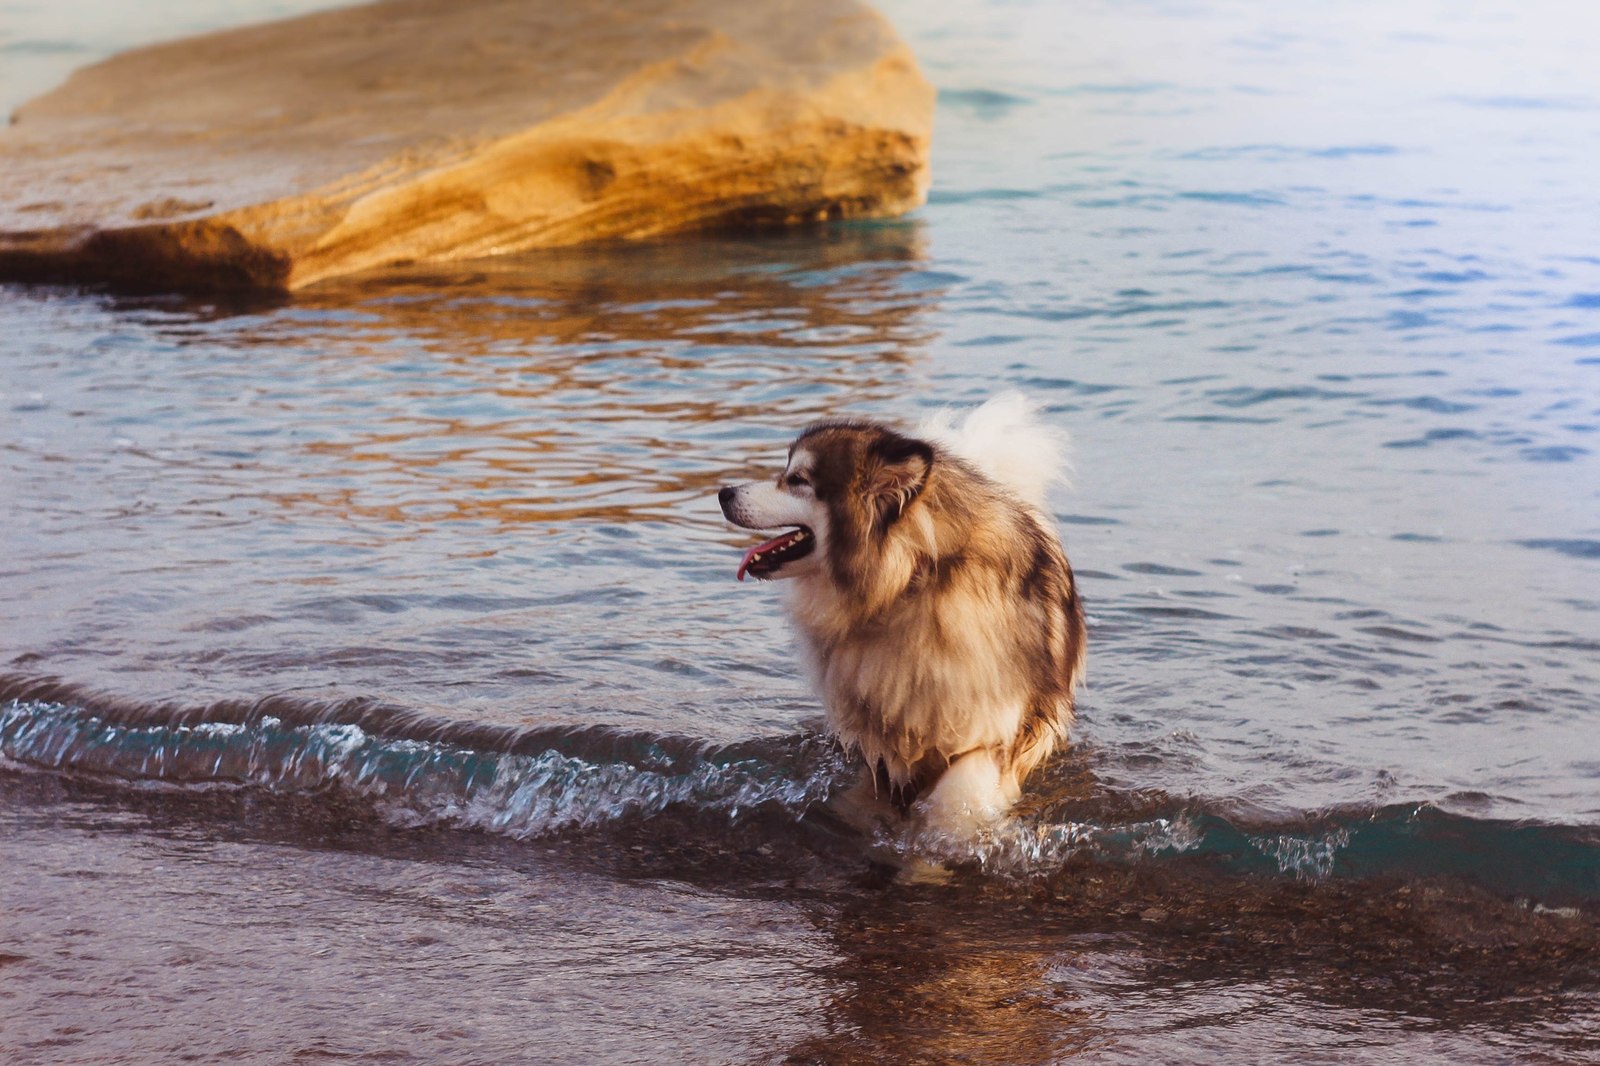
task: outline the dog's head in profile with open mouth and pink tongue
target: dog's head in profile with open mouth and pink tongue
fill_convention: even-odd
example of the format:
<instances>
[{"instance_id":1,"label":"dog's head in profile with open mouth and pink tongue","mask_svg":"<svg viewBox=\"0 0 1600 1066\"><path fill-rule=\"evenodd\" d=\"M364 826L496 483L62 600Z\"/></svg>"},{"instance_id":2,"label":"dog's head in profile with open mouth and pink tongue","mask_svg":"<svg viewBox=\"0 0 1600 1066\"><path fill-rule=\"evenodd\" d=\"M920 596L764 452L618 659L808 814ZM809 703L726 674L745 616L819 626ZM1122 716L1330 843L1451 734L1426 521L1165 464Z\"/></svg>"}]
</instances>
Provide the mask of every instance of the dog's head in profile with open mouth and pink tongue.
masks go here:
<instances>
[{"instance_id":1,"label":"dog's head in profile with open mouth and pink tongue","mask_svg":"<svg viewBox=\"0 0 1600 1066\"><path fill-rule=\"evenodd\" d=\"M933 466L933 445L880 423L811 426L789 447L776 480L730 485L717 496L734 525L790 527L744 554L739 579L746 573L766 579L838 570L882 541L915 506Z\"/></svg>"}]
</instances>

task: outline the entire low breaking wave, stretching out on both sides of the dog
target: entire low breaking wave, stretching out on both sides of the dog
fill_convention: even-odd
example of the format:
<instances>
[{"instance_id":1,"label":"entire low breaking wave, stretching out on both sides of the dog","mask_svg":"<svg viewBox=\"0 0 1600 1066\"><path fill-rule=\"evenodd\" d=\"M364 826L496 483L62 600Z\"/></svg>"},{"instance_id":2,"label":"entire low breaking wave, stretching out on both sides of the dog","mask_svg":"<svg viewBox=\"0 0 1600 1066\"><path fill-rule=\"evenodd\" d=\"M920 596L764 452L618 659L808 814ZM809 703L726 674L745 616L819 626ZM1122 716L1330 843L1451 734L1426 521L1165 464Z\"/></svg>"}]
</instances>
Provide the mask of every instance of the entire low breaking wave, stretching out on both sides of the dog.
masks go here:
<instances>
[{"instance_id":1,"label":"entire low breaking wave, stretching out on both sides of the dog","mask_svg":"<svg viewBox=\"0 0 1600 1066\"><path fill-rule=\"evenodd\" d=\"M602 728L491 728L376 703L264 699L203 709L130 707L62 687L0 690L0 759L130 787L341 792L402 828L517 840L651 829L669 812L776 829L822 816L851 768L822 736L710 744ZM1195 799L1101 792L1032 797L1029 810L954 853L880 839L1002 879L1070 864L1179 861L1229 876L1458 877L1547 904L1600 901L1600 829L1469 818L1430 805L1246 823ZM662 832L683 834L682 818Z\"/></svg>"}]
</instances>

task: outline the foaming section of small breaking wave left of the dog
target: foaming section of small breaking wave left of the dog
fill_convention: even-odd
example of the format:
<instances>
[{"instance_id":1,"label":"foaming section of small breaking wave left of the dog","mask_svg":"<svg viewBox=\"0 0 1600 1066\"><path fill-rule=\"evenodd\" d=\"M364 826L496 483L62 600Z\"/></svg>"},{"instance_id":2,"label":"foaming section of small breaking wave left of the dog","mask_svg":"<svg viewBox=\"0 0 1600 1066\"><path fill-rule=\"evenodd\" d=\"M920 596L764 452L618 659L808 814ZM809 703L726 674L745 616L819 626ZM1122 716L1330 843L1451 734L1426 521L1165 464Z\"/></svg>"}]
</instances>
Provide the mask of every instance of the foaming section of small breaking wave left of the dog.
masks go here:
<instances>
[{"instance_id":1,"label":"foaming section of small breaking wave left of the dog","mask_svg":"<svg viewBox=\"0 0 1600 1066\"><path fill-rule=\"evenodd\" d=\"M798 818L824 800L837 755L819 741L714 747L680 738L526 730L493 747L386 736L371 722L293 720L262 704L242 720L144 720L53 701L0 704L0 755L136 786L338 789L402 826L514 839L595 829L670 807ZM368 709L368 719L376 717ZM410 722L413 731L416 722ZM448 736L448 725L435 725ZM509 741L509 743L507 743ZM526 747L534 751L523 751ZM778 755L774 760L774 754Z\"/></svg>"}]
</instances>

